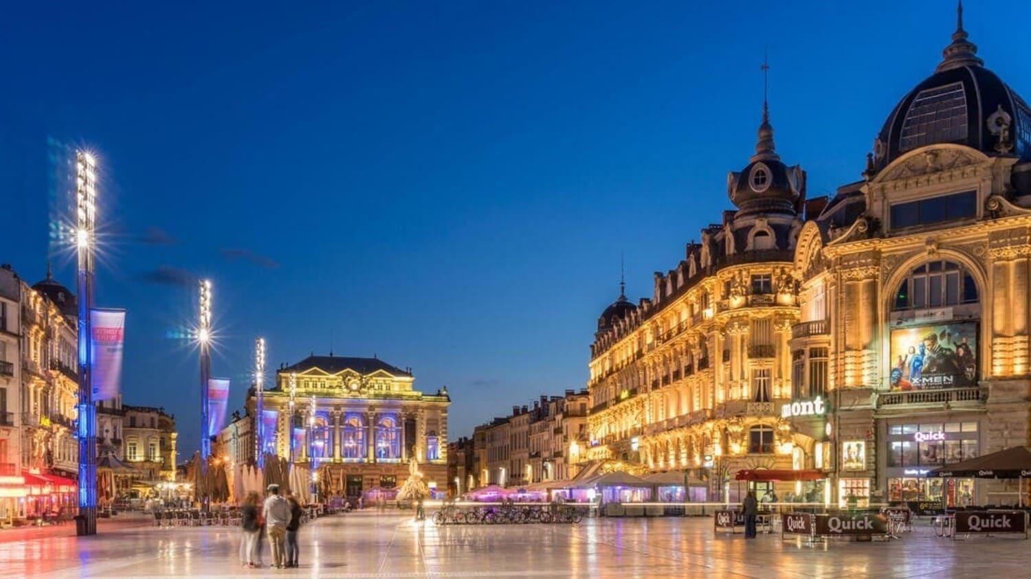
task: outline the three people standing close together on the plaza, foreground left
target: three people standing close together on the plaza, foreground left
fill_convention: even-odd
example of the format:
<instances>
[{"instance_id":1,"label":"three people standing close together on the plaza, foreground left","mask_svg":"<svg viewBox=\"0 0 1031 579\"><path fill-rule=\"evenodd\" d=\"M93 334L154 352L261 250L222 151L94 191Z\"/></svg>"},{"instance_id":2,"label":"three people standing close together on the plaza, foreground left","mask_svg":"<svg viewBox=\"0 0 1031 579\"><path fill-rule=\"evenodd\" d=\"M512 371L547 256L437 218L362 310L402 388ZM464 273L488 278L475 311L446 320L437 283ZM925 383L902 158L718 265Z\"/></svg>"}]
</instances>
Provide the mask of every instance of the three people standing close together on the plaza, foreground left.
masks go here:
<instances>
[{"instance_id":1,"label":"three people standing close together on the plaza, foreground left","mask_svg":"<svg viewBox=\"0 0 1031 579\"><path fill-rule=\"evenodd\" d=\"M287 497L279 495L278 484L268 485L266 496L261 503L258 493L251 491L240 507L240 565L251 569L262 566L261 535L264 531L272 549L272 567L299 567L297 532L304 510L293 492Z\"/></svg>"}]
</instances>

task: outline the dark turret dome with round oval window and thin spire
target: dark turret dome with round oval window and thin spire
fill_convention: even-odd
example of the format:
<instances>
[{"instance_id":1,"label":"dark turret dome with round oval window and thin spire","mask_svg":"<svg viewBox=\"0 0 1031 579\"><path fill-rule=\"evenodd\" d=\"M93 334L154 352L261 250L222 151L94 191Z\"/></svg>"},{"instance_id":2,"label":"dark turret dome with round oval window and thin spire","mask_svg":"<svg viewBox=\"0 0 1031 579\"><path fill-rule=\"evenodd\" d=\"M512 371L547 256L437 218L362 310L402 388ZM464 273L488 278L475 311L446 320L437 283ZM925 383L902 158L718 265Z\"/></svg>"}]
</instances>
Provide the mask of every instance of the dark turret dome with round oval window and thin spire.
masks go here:
<instances>
[{"instance_id":1,"label":"dark turret dome with round oval window and thin spire","mask_svg":"<svg viewBox=\"0 0 1031 579\"><path fill-rule=\"evenodd\" d=\"M738 215L784 213L794 215L804 197L805 171L798 165L780 162L773 146L769 107L763 102L756 154L740 172L727 175L727 195L740 211Z\"/></svg>"}]
</instances>

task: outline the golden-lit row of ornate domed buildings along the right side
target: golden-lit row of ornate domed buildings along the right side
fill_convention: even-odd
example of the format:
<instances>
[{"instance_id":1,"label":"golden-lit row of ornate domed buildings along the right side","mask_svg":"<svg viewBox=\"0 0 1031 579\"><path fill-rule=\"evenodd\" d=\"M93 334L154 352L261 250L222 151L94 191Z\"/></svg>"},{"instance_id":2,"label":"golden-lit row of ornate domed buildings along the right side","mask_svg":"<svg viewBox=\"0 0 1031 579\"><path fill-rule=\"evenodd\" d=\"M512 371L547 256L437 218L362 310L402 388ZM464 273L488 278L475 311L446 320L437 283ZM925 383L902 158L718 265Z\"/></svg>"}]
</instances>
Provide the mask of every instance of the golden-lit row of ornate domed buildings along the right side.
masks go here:
<instances>
[{"instance_id":1,"label":"golden-lit row of ornate domed buildings along the right side","mask_svg":"<svg viewBox=\"0 0 1031 579\"><path fill-rule=\"evenodd\" d=\"M781 498L1016 502L923 477L1031 443L1031 109L962 16L943 55L830 200L805 200L764 111L735 209L599 318L586 459L689 471L710 499L784 469L822 480Z\"/></svg>"}]
</instances>

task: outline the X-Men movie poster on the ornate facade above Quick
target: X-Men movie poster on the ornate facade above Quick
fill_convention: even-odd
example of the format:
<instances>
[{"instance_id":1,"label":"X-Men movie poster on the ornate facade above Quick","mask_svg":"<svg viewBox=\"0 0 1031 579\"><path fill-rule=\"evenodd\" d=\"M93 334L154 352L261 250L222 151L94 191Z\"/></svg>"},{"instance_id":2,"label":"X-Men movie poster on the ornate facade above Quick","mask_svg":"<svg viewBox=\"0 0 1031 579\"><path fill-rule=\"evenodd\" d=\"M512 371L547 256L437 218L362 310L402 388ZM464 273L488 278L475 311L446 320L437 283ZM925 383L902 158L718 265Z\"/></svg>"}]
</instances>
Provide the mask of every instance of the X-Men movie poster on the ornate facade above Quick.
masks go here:
<instances>
[{"instance_id":1,"label":"X-Men movie poster on the ornate facade above Quick","mask_svg":"<svg viewBox=\"0 0 1031 579\"><path fill-rule=\"evenodd\" d=\"M977 325L934 323L892 330L893 390L960 388L977 383Z\"/></svg>"}]
</instances>

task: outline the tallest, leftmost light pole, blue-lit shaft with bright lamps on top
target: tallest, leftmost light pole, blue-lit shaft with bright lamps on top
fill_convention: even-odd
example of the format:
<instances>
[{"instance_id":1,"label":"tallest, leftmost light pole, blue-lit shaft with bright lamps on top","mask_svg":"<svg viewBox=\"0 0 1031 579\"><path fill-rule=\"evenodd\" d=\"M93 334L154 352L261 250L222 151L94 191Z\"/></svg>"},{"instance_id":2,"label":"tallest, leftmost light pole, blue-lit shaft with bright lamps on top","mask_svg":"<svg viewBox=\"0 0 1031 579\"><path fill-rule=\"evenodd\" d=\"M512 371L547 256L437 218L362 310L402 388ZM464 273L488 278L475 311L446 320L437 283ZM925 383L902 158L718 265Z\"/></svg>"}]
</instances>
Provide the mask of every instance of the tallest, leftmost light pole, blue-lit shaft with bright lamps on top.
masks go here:
<instances>
[{"instance_id":1,"label":"tallest, leftmost light pole, blue-lit shaft with bright lamps on top","mask_svg":"<svg viewBox=\"0 0 1031 579\"><path fill-rule=\"evenodd\" d=\"M97 408L93 405L90 312L96 242L97 169L75 152L75 245L78 256L78 520L76 535L97 534Z\"/></svg>"}]
</instances>

